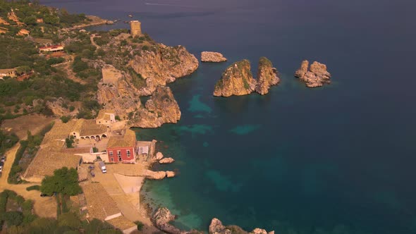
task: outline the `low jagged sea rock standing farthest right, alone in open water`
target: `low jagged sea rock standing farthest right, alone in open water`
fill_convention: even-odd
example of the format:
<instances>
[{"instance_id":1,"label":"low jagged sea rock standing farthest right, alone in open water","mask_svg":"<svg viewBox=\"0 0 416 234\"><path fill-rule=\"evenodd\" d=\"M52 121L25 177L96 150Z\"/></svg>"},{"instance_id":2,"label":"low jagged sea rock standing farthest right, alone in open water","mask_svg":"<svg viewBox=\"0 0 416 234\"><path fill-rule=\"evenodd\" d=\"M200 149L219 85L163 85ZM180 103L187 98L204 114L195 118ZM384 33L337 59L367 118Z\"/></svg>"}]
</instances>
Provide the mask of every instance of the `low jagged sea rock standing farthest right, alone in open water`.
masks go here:
<instances>
[{"instance_id":1,"label":"low jagged sea rock standing farthest right, alone in open water","mask_svg":"<svg viewBox=\"0 0 416 234\"><path fill-rule=\"evenodd\" d=\"M307 87L321 87L331 83L331 73L326 70L326 65L314 61L309 70L309 61L302 61L300 68L296 70L295 77L305 82Z\"/></svg>"}]
</instances>

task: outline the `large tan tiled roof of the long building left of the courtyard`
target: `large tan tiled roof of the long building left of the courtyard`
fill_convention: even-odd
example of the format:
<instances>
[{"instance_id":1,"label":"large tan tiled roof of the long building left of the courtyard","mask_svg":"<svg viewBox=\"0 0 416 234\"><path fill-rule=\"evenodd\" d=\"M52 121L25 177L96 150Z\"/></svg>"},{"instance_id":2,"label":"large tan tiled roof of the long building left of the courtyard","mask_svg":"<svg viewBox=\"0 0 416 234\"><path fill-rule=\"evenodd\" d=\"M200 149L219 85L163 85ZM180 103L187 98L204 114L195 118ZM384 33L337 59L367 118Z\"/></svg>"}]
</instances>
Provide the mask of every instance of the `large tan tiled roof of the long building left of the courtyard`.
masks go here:
<instances>
[{"instance_id":1,"label":"large tan tiled roof of the long building left of the courtyard","mask_svg":"<svg viewBox=\"0 0 416 234\"><path fill-rule=\"evenodd\" d=\"M24 177L52 176L56 169L63 166L68 168L78 166L81 156L75 156L71 150L63 148L65 139L68 133L71 133L75 122L56 121L54 127L44 136L40 149L27 167Z\"/></svg>"}]
</instances>

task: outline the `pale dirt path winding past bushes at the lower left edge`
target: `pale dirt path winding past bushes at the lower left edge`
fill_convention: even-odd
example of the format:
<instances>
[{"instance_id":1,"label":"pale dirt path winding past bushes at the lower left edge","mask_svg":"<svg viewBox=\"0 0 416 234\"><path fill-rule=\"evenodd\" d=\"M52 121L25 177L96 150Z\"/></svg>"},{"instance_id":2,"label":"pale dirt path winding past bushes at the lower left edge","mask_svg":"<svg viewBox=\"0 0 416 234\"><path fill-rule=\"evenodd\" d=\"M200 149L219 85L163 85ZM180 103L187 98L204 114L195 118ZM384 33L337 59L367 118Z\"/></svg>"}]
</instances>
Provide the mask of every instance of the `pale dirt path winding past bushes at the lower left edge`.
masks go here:
<instances>
[{"instance_id":1,"label":"pale dirt path winding past bushes at the lower left edge","mask_svg":"<svg viewBox=\"0 0 416 234\"><path fill-rule=\"evenodd\" d=\"M13 190L18 195L25 199L31 199L34 202L33 208L35 213L41 217L54 217L56 218L56 200L54 197L40 197L40 192L36 190L27 191L26 187L36 185L35 183L27 183L21 185L11 185L7 183L8 173L10 173L11 166L16 158L16 152L20 147L20 143L6 152L6 161L4 162L3 174L0 178L0 191ZM39 184L37 184L39 185Z\"/></svg>"}]
</instances>

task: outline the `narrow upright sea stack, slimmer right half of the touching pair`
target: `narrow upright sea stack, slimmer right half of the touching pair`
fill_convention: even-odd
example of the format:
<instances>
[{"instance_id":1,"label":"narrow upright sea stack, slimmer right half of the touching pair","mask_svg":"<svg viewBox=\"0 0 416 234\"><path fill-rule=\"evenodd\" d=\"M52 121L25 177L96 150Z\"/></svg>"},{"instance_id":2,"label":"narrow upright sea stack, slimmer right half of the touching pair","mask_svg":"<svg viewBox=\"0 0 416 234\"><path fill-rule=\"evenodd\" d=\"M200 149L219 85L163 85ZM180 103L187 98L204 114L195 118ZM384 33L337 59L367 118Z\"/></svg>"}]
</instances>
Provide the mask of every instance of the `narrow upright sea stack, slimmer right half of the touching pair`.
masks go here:
<instances>
[{"instance_id":1,"label":"narrow upright sea stack, slimmer right half of the touching pair","mask_svg":"<svg viewBox=\"0 0 416 234\"><path fill-rule=\"evenodd\" d=\"M259 94L267 94L271 85L277 85L280 82L277 69L273 68L271 61L266 57L259 60L259 68L257 70L257 86L256 92Z\"/></svg>"}]
</instances>

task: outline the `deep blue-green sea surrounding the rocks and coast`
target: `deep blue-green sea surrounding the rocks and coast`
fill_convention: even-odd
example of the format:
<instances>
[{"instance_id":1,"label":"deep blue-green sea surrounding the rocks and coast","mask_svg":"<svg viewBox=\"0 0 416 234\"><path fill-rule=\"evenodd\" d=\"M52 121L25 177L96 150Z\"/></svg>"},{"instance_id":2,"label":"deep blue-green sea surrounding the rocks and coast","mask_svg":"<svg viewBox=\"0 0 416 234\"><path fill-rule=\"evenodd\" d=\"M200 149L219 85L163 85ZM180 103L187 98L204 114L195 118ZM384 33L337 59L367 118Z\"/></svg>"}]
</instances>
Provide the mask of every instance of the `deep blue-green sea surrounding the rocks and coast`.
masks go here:
<instances>
[{"instance_id":1,"label":"deep blue-green sea surrounding the rocks and coast","mask_svg":"<svg viewBox=\"0 0 416 234\"><path fill-rule=\"evenodd\" d=\"M132 14L158 42L228 58L170 85L180 123L138 130L176 159L156 169L178 177L142 191L178 214L176 225L207 230L217 217L279 234L416 233L416 1L41 2ZM212 97L226 66L248 58L255 74L260 56L281 85ZM303 59L326 63L332 84L311 90L293 78Z\"/></svg>"}]
</instances>

